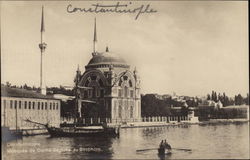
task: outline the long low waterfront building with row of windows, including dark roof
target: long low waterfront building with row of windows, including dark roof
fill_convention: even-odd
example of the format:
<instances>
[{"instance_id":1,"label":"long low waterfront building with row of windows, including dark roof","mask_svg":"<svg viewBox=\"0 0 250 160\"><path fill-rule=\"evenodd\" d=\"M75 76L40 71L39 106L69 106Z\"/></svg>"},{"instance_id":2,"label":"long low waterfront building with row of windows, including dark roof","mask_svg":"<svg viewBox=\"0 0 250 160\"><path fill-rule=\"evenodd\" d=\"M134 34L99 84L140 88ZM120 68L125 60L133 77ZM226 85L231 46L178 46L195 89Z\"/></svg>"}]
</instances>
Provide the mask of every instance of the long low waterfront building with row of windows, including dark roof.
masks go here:
<instances>
[{"instance_id":1,"label":"long low waterfront building with row of windows, including dark roof","mask_svg":"<svg viewBox=\"0 0 250 160\"><path fill-rule=\"evenodd\" d=\"M1 126L15 129L36 129L41 126L29 119L51 126L60 125L60 100L52 96L20 88L1 86Z\"/></svg>"}]
</instances>

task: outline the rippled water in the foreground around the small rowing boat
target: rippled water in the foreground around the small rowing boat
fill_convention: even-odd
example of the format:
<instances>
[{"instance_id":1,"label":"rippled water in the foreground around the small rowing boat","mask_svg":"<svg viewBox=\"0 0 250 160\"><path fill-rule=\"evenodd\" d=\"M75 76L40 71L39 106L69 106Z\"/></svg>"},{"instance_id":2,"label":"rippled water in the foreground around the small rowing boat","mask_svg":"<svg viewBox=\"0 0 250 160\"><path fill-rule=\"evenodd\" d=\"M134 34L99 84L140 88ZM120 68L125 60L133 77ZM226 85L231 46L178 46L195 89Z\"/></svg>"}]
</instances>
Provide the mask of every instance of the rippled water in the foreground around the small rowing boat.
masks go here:
<instances>
[{"instance_id":1,"label":"rippled water in the foreground around the small rowing boat","mask_svg":"<svg viewBox=\"0 0 250 160\"><path fill-rule=\"evenodd\" d=\"M159 157L156 150L167 139L173 150ZM50 138L49 135L24 137L2 144L5 159L249 159L249 123L168 126L121 129L120 138ZM10 153L12 152L12 153ZM23 153L17 153L23 152ZM26 152L26 153L25 153Z\"/></svg>"}]
</instances>

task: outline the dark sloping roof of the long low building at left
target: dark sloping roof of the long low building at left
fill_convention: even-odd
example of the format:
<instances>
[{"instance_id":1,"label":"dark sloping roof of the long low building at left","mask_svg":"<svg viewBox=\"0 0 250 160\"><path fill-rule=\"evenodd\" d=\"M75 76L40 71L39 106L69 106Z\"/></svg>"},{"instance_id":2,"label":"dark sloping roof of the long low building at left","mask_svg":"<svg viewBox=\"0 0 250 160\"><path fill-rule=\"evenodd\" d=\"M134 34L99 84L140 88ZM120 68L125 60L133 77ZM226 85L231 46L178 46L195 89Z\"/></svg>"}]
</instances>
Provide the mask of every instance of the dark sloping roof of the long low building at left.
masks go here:
<instances>
[{"instance_id":1,"label":"dark sloping roof of the long low building at left","mask_svg":"<svg viewBox=\"0 0 250 160\"><path fill-rule=\"evenodd\" d=\"M29 91L21 88L10 88L7 86L1 86L1 97L18 97L18 98L37 98L37 99L53 99L53 96L42 95L40 93Z\"/></svg>"}]
</instances>

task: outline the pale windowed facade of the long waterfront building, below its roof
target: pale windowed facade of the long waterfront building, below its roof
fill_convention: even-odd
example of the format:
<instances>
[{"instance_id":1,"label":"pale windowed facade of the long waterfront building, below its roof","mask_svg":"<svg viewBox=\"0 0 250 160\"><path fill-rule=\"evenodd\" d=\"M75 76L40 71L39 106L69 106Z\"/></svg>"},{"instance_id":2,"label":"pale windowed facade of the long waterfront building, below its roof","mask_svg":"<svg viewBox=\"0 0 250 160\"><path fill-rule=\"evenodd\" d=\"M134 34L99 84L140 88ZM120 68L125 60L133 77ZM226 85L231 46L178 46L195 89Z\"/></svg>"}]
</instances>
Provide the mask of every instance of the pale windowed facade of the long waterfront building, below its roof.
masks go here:
<instances>
[{"instance_id":1,"label":"pale windowed facade of the long waterfront building, below its roof","mask_svg":"<svg viewBox=\"0 0 250 160\"><path fill-rule=\"evenodd\" d=\"M26 122L29 119L39 123L60 125L60 100L1 97L1 126L11 130L40 130L40 125Z\"/></svg>"}]
</instances>

